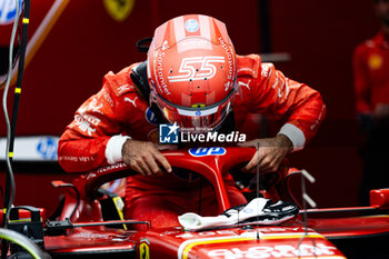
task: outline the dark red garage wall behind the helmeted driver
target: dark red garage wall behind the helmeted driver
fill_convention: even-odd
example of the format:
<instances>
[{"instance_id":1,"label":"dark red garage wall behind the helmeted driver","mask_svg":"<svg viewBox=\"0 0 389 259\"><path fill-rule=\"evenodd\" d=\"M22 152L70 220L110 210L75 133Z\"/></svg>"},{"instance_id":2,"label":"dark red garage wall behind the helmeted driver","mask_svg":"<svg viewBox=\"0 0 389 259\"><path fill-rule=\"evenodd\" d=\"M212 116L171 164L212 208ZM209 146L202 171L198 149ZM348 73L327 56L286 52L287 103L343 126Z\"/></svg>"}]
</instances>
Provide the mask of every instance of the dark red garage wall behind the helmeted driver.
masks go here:
<instances>
[{"instance_id":1,"label":"dark red garage wall behind the helmeted driver","mask_svg":"<svg viewBox=\"0 0 389 259\"><path fill-rule=\"evenodd\" d=\"M239 54L290 57L276 67L319 90L328 108L315 140L292 153L290 162L317 178L308 192L319 207L356 206L365 136L355 114L351 59L353 48L379 30L372 0L34 0L17 137L59 137L82 101L99 91L108 71L146 59L136 49L139 39L184 13L223 21ZM2 50L10 34L11 26L0 26ZM0 121L0 137L6 137L2 112ZM46 207L50 213L59 193L50 181L73 177L46 158L16 159L16 205ZM3 161L0 180L3 187Z\"/></svg>"}]
</instances>

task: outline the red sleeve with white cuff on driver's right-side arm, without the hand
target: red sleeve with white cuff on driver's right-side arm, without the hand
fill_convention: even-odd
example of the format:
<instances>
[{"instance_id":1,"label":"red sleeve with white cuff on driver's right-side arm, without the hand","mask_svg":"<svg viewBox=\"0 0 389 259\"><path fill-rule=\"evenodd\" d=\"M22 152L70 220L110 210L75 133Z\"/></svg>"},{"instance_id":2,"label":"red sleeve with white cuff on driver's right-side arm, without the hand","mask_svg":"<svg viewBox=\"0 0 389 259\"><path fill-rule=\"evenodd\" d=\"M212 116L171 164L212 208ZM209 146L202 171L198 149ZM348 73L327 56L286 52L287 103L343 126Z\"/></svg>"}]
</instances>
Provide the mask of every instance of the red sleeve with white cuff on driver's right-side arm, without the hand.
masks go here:
<instances>
[{"instance_id":1,"label":"red sleeve with white cuff on driver's right-side arm, without the hand","mask_svg":"<svg viewBox=\"0 0 389 259\"><path fill-rule=\"evenodd\" d=\"M318 91L285 77L271 63L262 63L249 94L251 111L286 121L278 135L289 138L293 151L302 149L317 133L326 116Z\"/></svg>"}]
</instances>

